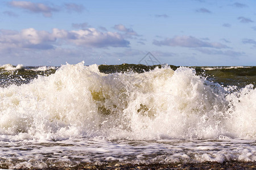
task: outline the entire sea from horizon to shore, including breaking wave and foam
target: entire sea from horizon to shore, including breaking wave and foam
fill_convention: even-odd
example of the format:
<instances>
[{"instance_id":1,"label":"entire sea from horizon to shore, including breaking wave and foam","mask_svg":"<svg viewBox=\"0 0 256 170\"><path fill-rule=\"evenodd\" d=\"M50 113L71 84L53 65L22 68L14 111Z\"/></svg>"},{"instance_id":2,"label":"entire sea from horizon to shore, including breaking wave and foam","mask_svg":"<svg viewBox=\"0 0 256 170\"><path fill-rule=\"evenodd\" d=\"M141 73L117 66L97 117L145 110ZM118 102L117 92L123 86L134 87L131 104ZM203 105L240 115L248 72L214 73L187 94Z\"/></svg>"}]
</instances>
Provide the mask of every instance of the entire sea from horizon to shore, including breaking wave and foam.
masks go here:
<instances>
[{"instance_id":1,"label":"entire sea from horizon to shore, including breaking wave and foam","mask_svg":"<svg viewBox=\"0 0 256 170\"><path fill-rule=\"evenodd\" d=\"M256 67L0 66L0 168L256 161Z\"/></svg>"}]
</instances>

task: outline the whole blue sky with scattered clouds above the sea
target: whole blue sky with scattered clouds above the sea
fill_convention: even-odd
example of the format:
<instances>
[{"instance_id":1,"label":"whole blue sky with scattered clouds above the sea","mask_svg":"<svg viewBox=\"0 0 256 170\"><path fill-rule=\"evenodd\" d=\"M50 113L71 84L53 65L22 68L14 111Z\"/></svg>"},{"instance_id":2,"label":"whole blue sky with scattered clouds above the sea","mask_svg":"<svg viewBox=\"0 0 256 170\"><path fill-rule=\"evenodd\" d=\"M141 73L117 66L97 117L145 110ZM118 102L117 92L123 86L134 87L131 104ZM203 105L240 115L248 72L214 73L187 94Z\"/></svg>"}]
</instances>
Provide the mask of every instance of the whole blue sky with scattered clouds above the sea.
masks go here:
<instances>
[{"instance_id":1,"label":"whole blue sky with scattered clouds above the sea","mask_svg":"<svg viewBox=\"0 0 256 170\"><path fill-rule=\"evenodd\" d=\"M256 1L1 1L0 65L256 66Z\"/></svg>"}]
</instances>

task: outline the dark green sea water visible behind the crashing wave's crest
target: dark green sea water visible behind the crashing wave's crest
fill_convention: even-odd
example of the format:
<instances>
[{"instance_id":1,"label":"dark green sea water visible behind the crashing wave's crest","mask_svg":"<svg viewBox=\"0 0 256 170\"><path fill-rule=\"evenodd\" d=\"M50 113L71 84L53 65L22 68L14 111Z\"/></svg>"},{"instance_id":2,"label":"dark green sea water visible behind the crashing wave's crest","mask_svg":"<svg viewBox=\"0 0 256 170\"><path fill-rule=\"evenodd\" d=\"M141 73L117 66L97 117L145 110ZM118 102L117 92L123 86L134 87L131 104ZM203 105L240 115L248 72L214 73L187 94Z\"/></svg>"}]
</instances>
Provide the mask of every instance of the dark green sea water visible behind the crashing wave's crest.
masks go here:
<instances>
[{"instance_id":1,"label":"dark green sea water visible behind the crashing wave's crest","mask_svg":"<svg viewBox=\"0 0 256 170\"><path fill-rule=\"evenodd\" d=\"M99 65L98 69L101 73L144 73L155 69L155 67L166 67L167 65ZM171 69L176 70L179 66L168 65ZM54 74L56 69L48 69L46 71L33 71L38 67L23 67L19 70L6 71L0 67L0 87L7 87L10 84L24 84L37 78L39 75L48 76ZM223 86L245 87L247 84L253 84L255 88L256 82L256 66L251 67L192 67L196 70L197 75L207 77L208 80L219 83Z\"/></svg>"}]
</instances>

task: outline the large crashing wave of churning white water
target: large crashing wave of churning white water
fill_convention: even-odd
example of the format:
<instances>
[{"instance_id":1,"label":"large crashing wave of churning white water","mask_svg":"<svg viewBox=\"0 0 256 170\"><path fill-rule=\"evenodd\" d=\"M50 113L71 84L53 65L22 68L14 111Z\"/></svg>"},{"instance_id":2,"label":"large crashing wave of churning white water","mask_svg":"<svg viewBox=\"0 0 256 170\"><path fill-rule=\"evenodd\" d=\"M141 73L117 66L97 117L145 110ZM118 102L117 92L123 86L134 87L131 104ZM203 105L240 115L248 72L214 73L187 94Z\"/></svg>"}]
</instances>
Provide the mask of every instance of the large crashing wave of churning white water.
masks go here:
<instances>
[{"instance_id":1,"label":"large crashing wave of churning white water","mask_svg":"<svg viewBox=\"0 0 256 170\"><path fill-rule=\"evenodd\" d=\"M100 73L63 65L0 88L0 141L75 138L256 139L256 90L223 87L194 69Z\"/></svg>"}]
</instances>

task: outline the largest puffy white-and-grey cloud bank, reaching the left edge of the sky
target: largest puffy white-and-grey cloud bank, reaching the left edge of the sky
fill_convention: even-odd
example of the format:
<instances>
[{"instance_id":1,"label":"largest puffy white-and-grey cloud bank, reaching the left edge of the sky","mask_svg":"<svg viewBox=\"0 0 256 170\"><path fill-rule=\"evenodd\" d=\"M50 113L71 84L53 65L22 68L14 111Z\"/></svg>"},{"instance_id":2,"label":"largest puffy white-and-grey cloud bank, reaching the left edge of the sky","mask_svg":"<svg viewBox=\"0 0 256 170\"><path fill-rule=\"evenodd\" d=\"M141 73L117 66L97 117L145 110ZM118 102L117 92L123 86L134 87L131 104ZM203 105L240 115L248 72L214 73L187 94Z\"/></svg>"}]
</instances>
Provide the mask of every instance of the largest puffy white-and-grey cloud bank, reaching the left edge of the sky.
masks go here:
<instances>
[{"instance_id":1,"label":"largest puffy white-and-grey cloud bank, reaching the left edge of the sky","mask_svg":"<svg viewBox=\"0 0 256 170\"><path fill-rule=\"evenodd\" d=\"M38 31L34 28L22 31L0 30L0 51L19 49L54 49L62 44L71 46L106 48L127 47L130 42L116 32L100 32L95 28L67 31L53 28L52 32Z\"/></svg>"}]
</instances>

